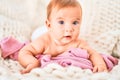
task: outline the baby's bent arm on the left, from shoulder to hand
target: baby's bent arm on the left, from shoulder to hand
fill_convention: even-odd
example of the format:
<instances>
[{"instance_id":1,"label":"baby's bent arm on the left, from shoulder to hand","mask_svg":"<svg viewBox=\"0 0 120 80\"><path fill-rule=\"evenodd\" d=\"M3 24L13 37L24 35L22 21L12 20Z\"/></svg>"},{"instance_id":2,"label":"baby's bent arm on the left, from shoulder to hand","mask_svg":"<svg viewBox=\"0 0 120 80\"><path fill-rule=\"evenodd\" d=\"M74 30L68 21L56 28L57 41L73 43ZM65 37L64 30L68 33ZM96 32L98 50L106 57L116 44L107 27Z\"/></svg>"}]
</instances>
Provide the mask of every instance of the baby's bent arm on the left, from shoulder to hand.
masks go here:
<instances>
[{"instance_id":1,"label":"baby's bent arm on the left, from shoulder to hand","mask_svg":"<svg viewBox=\"0 0 120 80\"><path fill-rule=\"evenodd\" d=\"M43 52L43 43L41 41L41 38L38 38L37 40L31 42L30 44L24 46L19 54L18 54L18 61L19 63L25 67L24 70L21 71L21 73L28 73L33 68L40 66L40 61L38 61L35 56L38 53Z\"/></svg>"}]
</instances>

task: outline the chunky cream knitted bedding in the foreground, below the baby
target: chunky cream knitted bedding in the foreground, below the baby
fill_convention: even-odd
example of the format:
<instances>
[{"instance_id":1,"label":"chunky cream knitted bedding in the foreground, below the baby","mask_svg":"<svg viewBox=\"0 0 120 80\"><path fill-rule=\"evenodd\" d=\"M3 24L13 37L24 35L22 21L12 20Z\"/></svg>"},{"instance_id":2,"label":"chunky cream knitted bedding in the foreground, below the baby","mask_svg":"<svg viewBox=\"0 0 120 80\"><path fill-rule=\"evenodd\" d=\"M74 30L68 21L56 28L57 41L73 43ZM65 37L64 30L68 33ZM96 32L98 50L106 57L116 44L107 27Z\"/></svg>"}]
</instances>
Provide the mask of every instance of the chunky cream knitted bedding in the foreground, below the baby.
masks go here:
<instances>
[{"instance_id":1,"label":"chunky cream knitted bedding in the foreground, below the baby","mask_svg":"<svg viewBox=\"0 0 120 80\"><path fill-rule=\"evenodd\" d=\"M120 62L110 72L92 73L90 70L58 64L33 69L28 74L20 74L23 69L18 62L0 58L0 80L120 80Z\"/></svg>"}]
</instances>

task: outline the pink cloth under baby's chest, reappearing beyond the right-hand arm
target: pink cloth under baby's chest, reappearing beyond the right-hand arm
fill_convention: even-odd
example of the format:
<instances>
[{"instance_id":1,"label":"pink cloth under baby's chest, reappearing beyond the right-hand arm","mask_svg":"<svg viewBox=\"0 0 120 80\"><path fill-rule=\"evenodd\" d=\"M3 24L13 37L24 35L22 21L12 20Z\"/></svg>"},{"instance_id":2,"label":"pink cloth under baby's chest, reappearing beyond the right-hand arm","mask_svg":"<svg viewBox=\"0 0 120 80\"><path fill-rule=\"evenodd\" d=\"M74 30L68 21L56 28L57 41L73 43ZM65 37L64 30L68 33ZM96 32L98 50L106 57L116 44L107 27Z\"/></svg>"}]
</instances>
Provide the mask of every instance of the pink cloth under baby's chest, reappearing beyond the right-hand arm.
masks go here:
<instances>
[{"instance_id":1,"label":"pink cloth under baby's chest, reappearing beyond the right-hand arm","mask_svg":"<svg viewBox=\"0 0 120 80\"><path fill-rule=\"evenodd\" d=\"M101 55L106 62L108 70L111 70L115 65L118 64L118 60L116 58L110 55ZM77 66L82 69L93 69L93 65L89 60L87 51L79 48L70 49L56 57L51 57L50 55L41 55L39 56L39 59L41 61L41 67L45 67L50 63L57 63L64 67Z\"/></svg>"}]
</instances>

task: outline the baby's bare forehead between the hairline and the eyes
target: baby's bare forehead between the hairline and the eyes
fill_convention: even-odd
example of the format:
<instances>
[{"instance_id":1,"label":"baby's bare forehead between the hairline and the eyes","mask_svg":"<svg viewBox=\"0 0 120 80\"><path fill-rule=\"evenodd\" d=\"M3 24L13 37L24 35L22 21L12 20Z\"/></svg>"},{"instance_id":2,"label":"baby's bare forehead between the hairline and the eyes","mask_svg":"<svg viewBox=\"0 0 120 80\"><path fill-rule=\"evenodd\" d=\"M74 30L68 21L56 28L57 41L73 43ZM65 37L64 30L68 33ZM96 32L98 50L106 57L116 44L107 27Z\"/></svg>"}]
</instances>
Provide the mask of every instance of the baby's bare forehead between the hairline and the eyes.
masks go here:
<instances>
[{"instance_id":1,"label":"baby's bare forehead between the hairline and the eyes","mask_svg":"<svg viewBox=\"0 0 120 80\"><path fill-rule=\"evenodd\" d=\"M51 13L51 19L80 19L82 16L81 10L79 7L63 7L63 8L54 8Z\"/></svg>"}]
</instances>

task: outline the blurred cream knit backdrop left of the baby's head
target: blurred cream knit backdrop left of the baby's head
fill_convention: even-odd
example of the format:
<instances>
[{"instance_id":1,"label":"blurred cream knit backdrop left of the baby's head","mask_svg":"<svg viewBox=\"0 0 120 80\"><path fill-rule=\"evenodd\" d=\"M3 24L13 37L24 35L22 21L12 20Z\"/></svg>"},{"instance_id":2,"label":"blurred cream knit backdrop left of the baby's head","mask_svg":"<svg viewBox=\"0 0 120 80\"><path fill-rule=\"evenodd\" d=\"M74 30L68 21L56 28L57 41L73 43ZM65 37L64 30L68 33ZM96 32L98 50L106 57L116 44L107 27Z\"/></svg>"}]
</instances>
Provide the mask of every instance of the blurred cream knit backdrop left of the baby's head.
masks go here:
<instances>
[{"instance_id":1,"label":"blurred cream knit backdrop left of the baby's head","mask_svg":"<svg viewBox=\"0 0 120 80\"><path fill-rule=\"evenodd\" d=\"M39 0L0 0L0 39L30 40L32 31L44 23L43 5Z\"/></svg>"}]
</instances>

